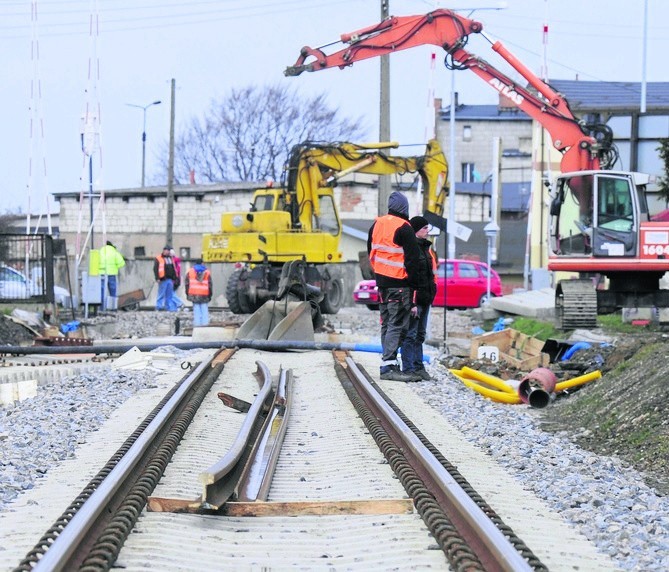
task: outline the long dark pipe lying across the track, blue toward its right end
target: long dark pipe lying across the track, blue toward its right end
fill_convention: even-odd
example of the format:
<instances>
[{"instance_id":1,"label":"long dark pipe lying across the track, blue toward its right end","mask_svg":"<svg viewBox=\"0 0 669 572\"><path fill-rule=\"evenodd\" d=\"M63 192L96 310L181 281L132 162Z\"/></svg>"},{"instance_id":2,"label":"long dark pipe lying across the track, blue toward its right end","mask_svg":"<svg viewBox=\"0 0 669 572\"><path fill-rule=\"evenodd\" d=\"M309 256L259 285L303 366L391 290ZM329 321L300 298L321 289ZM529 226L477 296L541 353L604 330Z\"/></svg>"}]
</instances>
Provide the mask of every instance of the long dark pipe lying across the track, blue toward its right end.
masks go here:
<instances>
[{"instance_id":1,"label":"long dark pipe lying across the track, blue toward its right end","mask_svg":"<svg viewBox=\"0 0 669 572\"><path fill-rule=\"evenodd\" d=\"M252 348L266 351L288 350L348 350L356 352L381 353L378 344L351 344L347 342L304 342L304 341L269 341L269 340L232 340L226 342L153 342L138 344L94 344L92 346L0 346L0 355L34 355L34 354L123 354L133 348L148 352L165 346L173 346L181 350L218 349L218 348Z\"/></svg>"}]
</instances>

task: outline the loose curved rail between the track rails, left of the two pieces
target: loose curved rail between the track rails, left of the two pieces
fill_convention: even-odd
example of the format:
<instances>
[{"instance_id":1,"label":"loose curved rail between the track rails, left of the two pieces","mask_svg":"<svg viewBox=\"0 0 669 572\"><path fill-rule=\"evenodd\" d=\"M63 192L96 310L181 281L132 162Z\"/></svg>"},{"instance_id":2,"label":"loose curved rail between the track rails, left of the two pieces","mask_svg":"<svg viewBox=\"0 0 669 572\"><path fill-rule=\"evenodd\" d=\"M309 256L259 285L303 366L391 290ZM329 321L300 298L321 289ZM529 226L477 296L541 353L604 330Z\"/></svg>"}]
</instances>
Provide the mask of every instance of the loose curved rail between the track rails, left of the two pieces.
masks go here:
<instances>
[{"instance_id":1,"label":"loose curved rail between the track rails, left of the two pieces","mask_svg":"<svg viewBox=\"0 0 669 572\"><path fill-rule=\"evenodd\" d=\"M200 508L203 510L218 510L234 493L253 443L265 421L269 403L274 399L272 375L269 369L260 361L257 361L256 364L258 370L255 376L258 379L260 391L244 418L237 438L225 456L200 473L202 483Z\"/></svg>"}]
</instances>

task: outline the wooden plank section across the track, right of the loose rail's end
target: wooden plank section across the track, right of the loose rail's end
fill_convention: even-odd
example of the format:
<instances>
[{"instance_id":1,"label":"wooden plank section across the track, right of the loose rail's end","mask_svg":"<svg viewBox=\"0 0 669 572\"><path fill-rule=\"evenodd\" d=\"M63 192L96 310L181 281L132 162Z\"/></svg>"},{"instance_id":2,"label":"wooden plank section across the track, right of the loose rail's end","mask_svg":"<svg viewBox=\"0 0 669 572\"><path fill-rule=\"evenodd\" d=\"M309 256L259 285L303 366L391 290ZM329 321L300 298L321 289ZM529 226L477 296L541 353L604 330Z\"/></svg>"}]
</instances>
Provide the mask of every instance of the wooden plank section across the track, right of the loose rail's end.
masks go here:
<instances>
[{"instance_id":1,"label":"wooden plank section across the track, right of the loose rail's end","mask_svg":"<svg viewBox=\"0 0 669 572\"><path fill-rule=\"evenodd\" d=\"M228 516L305 516L337 514L411 514L411 499L354 501L227 502Z\"/></svg>"}]
</instances>

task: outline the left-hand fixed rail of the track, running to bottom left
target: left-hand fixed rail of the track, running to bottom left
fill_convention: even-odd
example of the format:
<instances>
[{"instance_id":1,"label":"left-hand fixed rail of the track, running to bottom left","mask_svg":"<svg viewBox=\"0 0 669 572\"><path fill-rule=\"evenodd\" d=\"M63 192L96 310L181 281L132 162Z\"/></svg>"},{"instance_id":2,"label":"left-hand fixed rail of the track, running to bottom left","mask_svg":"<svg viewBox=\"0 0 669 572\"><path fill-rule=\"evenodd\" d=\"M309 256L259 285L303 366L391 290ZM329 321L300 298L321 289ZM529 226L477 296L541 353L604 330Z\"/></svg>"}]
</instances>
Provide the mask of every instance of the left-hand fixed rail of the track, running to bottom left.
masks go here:
<instances>
[{"instance_id":1,"label":"left-hand fixed rail of the track, running to bottom left","mask_svg":"<svg viewBox=\"0 0 669 572\"><path fill-rule=\"evenodd\" d=\"M70 569L69 563L77 548L86 539L97 519L135 470L141 458L154 445L157 435L170 422L174 412L179 409L193 386L197 384L206 369L210 367L212 360L213 357L200 363L181 384L165 404L165 407L133 443L127 454L120 459L107 478L100 483L98 488L72 517L72 520L63 528L46 553L35 564L33 570L54 572Z\"/></svg>"}]
</instances>

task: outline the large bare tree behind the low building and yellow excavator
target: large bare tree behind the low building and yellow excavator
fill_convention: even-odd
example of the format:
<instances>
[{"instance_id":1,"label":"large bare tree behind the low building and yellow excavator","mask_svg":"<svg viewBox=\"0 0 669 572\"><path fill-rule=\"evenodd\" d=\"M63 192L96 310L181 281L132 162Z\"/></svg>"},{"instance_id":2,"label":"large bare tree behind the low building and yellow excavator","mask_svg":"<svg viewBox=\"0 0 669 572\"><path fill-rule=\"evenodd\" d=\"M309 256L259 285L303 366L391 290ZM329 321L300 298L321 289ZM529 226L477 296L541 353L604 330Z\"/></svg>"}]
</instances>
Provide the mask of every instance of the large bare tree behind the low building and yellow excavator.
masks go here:
<instances>
[{"instance_id":1,"label":"large bare tree behind the low building and yellow excavator","mask_svg":"<svg viewBox=\"0 0 669 572\"><path fill-rule=\"evenodd\" d=\"M355 140L364 132L362 118L340 117L324 94L307 98L280 84L233 89L177 135L174 180L186 183L191 171L198 182L279 180L296 143ZM166 147L161 156L166 173Z\"/></svg>"}]
</instances>

